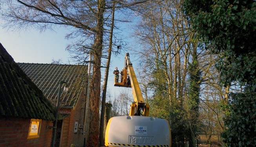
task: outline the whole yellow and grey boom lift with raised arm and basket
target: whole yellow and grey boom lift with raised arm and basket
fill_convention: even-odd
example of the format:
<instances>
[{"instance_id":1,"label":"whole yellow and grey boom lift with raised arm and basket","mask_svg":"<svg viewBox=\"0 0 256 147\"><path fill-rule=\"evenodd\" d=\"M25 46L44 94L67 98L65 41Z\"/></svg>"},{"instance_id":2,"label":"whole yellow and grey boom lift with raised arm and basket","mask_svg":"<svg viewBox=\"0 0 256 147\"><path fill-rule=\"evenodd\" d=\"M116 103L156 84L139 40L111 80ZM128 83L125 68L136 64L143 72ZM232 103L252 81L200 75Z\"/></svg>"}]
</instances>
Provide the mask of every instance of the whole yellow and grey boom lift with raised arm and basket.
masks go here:
<instances>
[{"instance_id":1,"label":"whole yellow and grey boom lift with raised arm and basket","mask_svg":"<svg viewBox=\"0 0 256 147\"><path fill-rule=\"evenodd\" d=\"M114 79L114 86L131 87L134 102L131 104L129 116L115 116L109 119L105 132L105 145L107 147L171 147L169 122L165 119L149 117L149 104L143 100L128 53L125 55L121 78Z\"/></svg>"}]
</instances>

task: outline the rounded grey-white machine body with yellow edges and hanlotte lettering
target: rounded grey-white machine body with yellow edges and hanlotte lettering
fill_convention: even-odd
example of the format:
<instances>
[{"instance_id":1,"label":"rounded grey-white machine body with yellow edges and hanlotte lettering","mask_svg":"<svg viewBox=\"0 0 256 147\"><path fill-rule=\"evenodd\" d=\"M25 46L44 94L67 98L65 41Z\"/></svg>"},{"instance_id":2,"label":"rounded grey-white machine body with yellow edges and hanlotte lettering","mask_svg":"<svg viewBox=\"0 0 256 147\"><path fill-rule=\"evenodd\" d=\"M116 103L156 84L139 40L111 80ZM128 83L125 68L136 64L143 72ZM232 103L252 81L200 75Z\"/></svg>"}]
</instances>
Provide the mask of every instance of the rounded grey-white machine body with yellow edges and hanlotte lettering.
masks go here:
<instances>
[{"instance_id":1,"label":"rounded grey-white machine body with yellow edges and hanlotte lettering","mask_svg":"<svg viewBox=\"0 0 256 147\"><path fill-rule=\"evenodd\" d=\"M171 147L171 130L165 119L148 116L116 116L105 134L108 147Z\"/></svg>"}]
</instances>

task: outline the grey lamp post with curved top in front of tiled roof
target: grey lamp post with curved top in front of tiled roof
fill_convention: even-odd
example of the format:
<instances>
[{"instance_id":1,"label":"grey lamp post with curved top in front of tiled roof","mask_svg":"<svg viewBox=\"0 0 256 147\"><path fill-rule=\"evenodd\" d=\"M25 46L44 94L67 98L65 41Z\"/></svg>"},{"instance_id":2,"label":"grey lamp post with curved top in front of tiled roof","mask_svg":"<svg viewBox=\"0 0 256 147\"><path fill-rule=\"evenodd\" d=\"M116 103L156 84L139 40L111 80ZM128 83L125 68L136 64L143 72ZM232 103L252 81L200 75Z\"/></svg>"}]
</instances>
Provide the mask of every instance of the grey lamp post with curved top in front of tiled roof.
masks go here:
<instances>
[{"instance_id":1,"label":"grey lamp post with curved top in front of tiled roof","mask_svg":"<svg viewBox=\"0 0 256 147\"><path fill-rule=\"evenodd\" d=\"M61 87L62 84L64 85L64 92L67 92L67 83L64 81L60 81L59 84L59 91L58 91L58 100L57 100L57 106L56 106L56 113L55 113L55 122L54 122L54 127L53 127L53 141L51 147L54 147L54 142L55 142L55 134L56 134L56 129L57 129L57 121L58 121L58 111L59 111L59 101L60 101L60 92L61 92Z\"/></svg>"}]
</instances>

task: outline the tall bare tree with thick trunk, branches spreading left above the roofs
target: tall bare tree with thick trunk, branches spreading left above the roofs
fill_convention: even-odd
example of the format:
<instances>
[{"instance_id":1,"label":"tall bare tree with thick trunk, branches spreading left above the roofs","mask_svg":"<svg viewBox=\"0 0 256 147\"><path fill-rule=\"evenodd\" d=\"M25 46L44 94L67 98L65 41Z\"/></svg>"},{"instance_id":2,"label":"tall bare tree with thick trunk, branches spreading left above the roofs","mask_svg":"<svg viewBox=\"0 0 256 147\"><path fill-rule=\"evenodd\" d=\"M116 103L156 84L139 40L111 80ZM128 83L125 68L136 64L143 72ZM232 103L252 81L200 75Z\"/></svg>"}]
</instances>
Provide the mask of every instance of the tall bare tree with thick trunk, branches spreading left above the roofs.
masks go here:
<instances>
[{"instance_id":1,"label":"tall bare tree with thick trunk, branches spreading left above the roofs","mask_svg":"<svg viewBox=\"0 0 256 147\"><path fill-rule=\"evenodd\" d=\"M69 45L67 50L74 54L78 63L87 64L89 54L93 55L93 75L90 85L91 125L89 131L90 146L98 146L99 140L99 102L100 102L100 67L103 54L105 10L112 9L113 1L109 0L5 0L9 9L3 10L2 16L9 27L30 28L40 31L54 30L57 25L73 28L66 38L78 41ZM143 1L118 1L120 8L139 4ZM108 16L107 14L105 16ZM95 124L96 123L96 124Z\"/></svg>"}]
</instances>

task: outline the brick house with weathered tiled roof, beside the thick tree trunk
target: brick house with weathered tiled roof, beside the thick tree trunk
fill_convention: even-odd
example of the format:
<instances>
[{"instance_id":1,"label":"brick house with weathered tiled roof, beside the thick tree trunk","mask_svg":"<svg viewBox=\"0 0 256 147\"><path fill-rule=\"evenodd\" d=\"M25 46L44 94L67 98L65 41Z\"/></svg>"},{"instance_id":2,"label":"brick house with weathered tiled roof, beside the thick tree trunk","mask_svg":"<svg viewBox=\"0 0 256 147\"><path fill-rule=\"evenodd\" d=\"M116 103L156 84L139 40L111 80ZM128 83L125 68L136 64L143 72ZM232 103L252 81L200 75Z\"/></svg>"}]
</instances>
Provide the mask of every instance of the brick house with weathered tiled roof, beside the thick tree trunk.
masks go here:
<instances>
[{"instance_id":1,"label":"brick house with weathered tiled roof, beside the thick tree trunk","mask_svg":"<svg viewBox=\"0 0 256 147\"><path fill-rule=\"evenodd\" d=\"M56 106L60 81L68 85L60 95L54 147L84 147L88 138L87 65L17 63ZM88 124L88 125L87 125Z\"/></svg>"}]
</instances>

